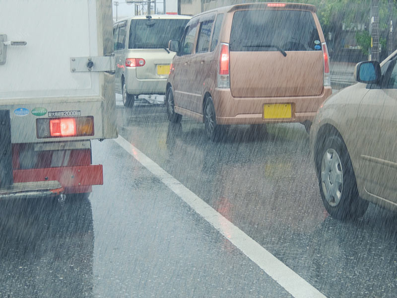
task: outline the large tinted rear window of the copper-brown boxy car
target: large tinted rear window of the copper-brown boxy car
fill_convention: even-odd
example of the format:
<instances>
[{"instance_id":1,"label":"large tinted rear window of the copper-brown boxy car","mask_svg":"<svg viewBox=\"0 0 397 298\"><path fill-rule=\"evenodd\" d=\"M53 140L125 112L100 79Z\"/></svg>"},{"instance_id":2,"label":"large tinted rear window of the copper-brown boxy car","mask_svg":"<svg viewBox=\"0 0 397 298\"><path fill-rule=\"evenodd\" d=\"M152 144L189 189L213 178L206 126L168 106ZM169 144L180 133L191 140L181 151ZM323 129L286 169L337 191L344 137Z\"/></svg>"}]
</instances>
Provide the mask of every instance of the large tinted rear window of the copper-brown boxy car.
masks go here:
<instances>
[{"instance_id":1,"label":"large tinted rear window of the copper-brown boxy car","mask_svg":"<svg viewBox=\"0 0 397 298\"><path fill-rule=\"evenodd\" d=\"M233 16L230 51L321 51L309 11L242 10Z\"/></svg>"}]
</instances>

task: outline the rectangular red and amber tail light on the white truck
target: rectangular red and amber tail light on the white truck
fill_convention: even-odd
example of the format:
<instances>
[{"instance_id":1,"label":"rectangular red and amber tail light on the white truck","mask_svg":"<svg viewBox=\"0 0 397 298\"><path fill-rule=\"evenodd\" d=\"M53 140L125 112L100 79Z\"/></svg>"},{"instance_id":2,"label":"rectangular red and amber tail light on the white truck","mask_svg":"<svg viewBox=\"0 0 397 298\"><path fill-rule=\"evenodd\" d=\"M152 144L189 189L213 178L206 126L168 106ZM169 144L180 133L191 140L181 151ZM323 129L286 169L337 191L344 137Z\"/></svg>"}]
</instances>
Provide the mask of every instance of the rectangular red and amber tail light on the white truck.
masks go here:
<instances>
[{"instance_id":1,"label":"rectangular red and amber tail light on the white truck","mask_svg":"<svg viewBox=\"0 0 397 298\"><path fill-rule=\"evenodd\" d=\"M36 134L38 139L93 136L94 117L39 118Z\"/></svg>"}]
</instances>

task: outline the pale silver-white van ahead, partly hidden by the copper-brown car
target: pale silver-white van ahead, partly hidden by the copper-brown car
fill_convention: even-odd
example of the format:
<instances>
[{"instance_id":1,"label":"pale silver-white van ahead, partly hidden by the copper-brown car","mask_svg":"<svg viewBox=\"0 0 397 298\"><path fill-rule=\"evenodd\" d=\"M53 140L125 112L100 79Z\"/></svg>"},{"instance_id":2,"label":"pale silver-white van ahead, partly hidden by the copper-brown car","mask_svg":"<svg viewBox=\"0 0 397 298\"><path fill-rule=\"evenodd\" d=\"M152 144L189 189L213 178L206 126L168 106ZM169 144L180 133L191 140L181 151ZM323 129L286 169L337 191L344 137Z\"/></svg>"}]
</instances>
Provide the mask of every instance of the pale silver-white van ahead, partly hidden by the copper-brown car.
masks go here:
<instances>
[{"instance_id":1,"label":"pale silver-white van ahead, partly hidden by the copper-brown car","mask_svg":"<svg viewBox=\"0 0 397 298\"><path fill-rule=\"evenodd\" d=\"M140 15L113 27L116 93L132 107L140 94L165 94L170 64L175 56L168 41L180 39L190 16Z\"/></svg>"}]
</instances>

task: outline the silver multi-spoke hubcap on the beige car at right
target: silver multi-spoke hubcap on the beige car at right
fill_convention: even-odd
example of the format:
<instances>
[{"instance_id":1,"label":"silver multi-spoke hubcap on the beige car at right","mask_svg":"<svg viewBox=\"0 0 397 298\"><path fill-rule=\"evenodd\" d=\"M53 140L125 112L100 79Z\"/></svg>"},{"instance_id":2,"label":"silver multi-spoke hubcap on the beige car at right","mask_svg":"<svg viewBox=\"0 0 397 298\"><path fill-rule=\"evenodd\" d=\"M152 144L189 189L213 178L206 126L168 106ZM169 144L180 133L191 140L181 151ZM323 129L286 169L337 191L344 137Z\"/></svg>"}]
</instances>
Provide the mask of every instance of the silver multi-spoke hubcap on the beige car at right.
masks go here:
<instances>
[{"instance_id":1,"label":"silver multi-spoke hubcap on the beige car at right","mask_svg":"<svg viewBox=\"0 0 397 298\"><path fill-rule=\"evenodd\" d=\"M321 185L327 202L335 207L343 191L343 169L338 153L328 149L321 161Z\"/></svg>"}]
</instances>

